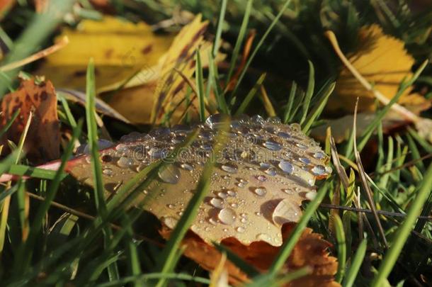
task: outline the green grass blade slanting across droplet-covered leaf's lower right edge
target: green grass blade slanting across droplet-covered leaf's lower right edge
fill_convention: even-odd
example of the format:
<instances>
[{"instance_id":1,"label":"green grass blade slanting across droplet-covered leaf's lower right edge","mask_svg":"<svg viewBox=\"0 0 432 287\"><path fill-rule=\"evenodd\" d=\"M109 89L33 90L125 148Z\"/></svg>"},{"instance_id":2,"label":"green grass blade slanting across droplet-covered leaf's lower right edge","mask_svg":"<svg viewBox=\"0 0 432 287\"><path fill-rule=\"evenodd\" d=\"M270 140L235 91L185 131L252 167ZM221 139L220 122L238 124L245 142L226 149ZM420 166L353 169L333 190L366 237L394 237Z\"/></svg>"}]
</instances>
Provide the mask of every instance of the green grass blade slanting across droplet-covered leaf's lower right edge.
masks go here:
<instances>
[{"instance_id":1,"label":"green grass blade slanting across droplet-covered leaf's lower right edge","mask_svg":"<svg viewBox=\"0 0 432 287\"><path fill-rule=\"evenodd\" d=\"M302 215L302 218L300 218L297 225L295 225L294 230L292 230L290 238L288 238L288 240L284 242L282 247L280 247L278 256L271 264L268 273L275 276L276 274L278 274L278 271L280 270L280 268L282 268L283 264L285 264L285 261L290 256L292 249L294 249L295 247L295 244L300 239L300 236L302 236L302 232L303 230L305 230L307 223L312 218L312 215L314 215L315 210L317 210L317 208L319 207L319 203L321 203L321 201L324 199L324 196L327 193L327 186L328 185L325 184L317 193L317 196L314 198L314 200L308 204L305 213L303 213Z\"/></svg>"}]
</instances>

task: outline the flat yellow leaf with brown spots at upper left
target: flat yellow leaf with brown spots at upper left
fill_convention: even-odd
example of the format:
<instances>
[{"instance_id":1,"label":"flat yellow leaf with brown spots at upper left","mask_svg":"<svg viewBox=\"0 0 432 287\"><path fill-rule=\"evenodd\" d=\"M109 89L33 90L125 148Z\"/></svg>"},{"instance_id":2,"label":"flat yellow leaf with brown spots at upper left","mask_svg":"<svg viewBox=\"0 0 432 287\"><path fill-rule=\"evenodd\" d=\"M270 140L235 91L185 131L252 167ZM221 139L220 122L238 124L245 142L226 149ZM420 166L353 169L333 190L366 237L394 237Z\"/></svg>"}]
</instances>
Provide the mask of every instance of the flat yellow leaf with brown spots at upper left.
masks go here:
<instances>
[{"instance_id":1,"label":"flat yellow leaf with brown spots at upper left","mask_svg":"<svg viewBox=\"0 0 432 287\"><path fill-rule=\"evenodd\" d=\"M131 23L105 16L102 21L84 20L76 29L64 28L56 40L64 36L69 45L46 57L38 70L57 88L84 89L86 67L93 57L96 64L98 90L126 81L145 69L149 80L156 73L153 66L168 50L172 35L156 35L146 23Z\"/></svg>"}]
</instances>

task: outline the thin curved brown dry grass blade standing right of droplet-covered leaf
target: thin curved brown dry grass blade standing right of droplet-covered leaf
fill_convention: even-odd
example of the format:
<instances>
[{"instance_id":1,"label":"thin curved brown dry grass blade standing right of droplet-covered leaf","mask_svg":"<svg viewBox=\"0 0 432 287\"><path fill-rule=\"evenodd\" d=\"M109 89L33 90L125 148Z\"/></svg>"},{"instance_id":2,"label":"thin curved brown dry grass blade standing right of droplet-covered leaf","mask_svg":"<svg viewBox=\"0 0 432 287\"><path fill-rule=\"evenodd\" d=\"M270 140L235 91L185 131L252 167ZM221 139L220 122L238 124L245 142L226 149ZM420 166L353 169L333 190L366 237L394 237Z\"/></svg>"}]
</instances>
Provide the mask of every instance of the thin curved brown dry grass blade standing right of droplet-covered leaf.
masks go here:
<instances>
[{"instance_id":1,"label":"thin curved brown dry grass blade standing right of droplet-covered leaf","mask_svg":"<svg viewBox=\"0 0 432 287\"><path fill-rule=\"evenodd\" d=\"M356 135L357 107L358 107L358 99L356 102L356 108L354 110L354 121L353 121L353 134L354 135ZM354 137L354 154L356 155L358 174L360 175L361 183L363 184L363 188L365 189L366 198L368 199L370 209L373 211L373 217L375 218L375 221L377 222L378 230L380 231L380 235L382 237L382 242L384 243L385 247L388 248L387 239L385 238L385 233L384 233L384 230L382 229L380 217L377 213L377 208L375 206L375 202L373 201L372 190L370 189L370 186L368 184L368 179L367 179L368 175L366 174L365 169L363 168L363 164L362 164L361 159L360 159L360 153L357 150L356 137Z\"/></svg>"}]
</instances>

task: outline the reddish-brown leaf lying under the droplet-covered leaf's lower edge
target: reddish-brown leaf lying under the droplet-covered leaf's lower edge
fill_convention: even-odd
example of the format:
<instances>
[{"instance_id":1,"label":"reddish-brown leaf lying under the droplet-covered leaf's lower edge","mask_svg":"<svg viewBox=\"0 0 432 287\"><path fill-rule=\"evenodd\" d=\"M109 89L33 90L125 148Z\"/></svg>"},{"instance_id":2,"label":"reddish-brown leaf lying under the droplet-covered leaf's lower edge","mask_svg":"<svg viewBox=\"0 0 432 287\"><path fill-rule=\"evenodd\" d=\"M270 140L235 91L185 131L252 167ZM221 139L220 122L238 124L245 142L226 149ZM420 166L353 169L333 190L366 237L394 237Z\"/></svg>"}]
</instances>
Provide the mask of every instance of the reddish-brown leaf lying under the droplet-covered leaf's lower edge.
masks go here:
<instances>
[{"instance_id":1,"label":"reddish-brown leaf lying under the droplet-covered leaf's lower edge","mask_svg":"<svg viewBox=\"0 0 432 287\"><path fill-rule=\"evenodd\" d=\"M295 223L283 225L283 240L287 240L295 227ZM164 226L161 229L161 235L168 239L171 235L171 229ZM234 237L222 240L221 244L228 247L232 252L244 259L251 266L256 267L258 271L265 272L271 266L273 260L278 254L279 248L268 244L267 242L257 241L249 245L244 245ZM204 269L212 271L215 269L217 262L222 255L215 247L204 242L193 232L188 232L182 242L185 249L184 255L196 261ZM337 272L338 263L335 257L329 256L328 248L331 244L322 239L322 235L313 233L307 228L300 240L295 245L288 260L285 262L283 272L288 273L305 266L312 268L312 274L298 278L285 286L295 287L336 287L339 283L334 281L334 275ZM225 269L229 274L230 283L239 285L248 281L248 277L232 262L225 263Z\"/></svg>"}]
</instances>

